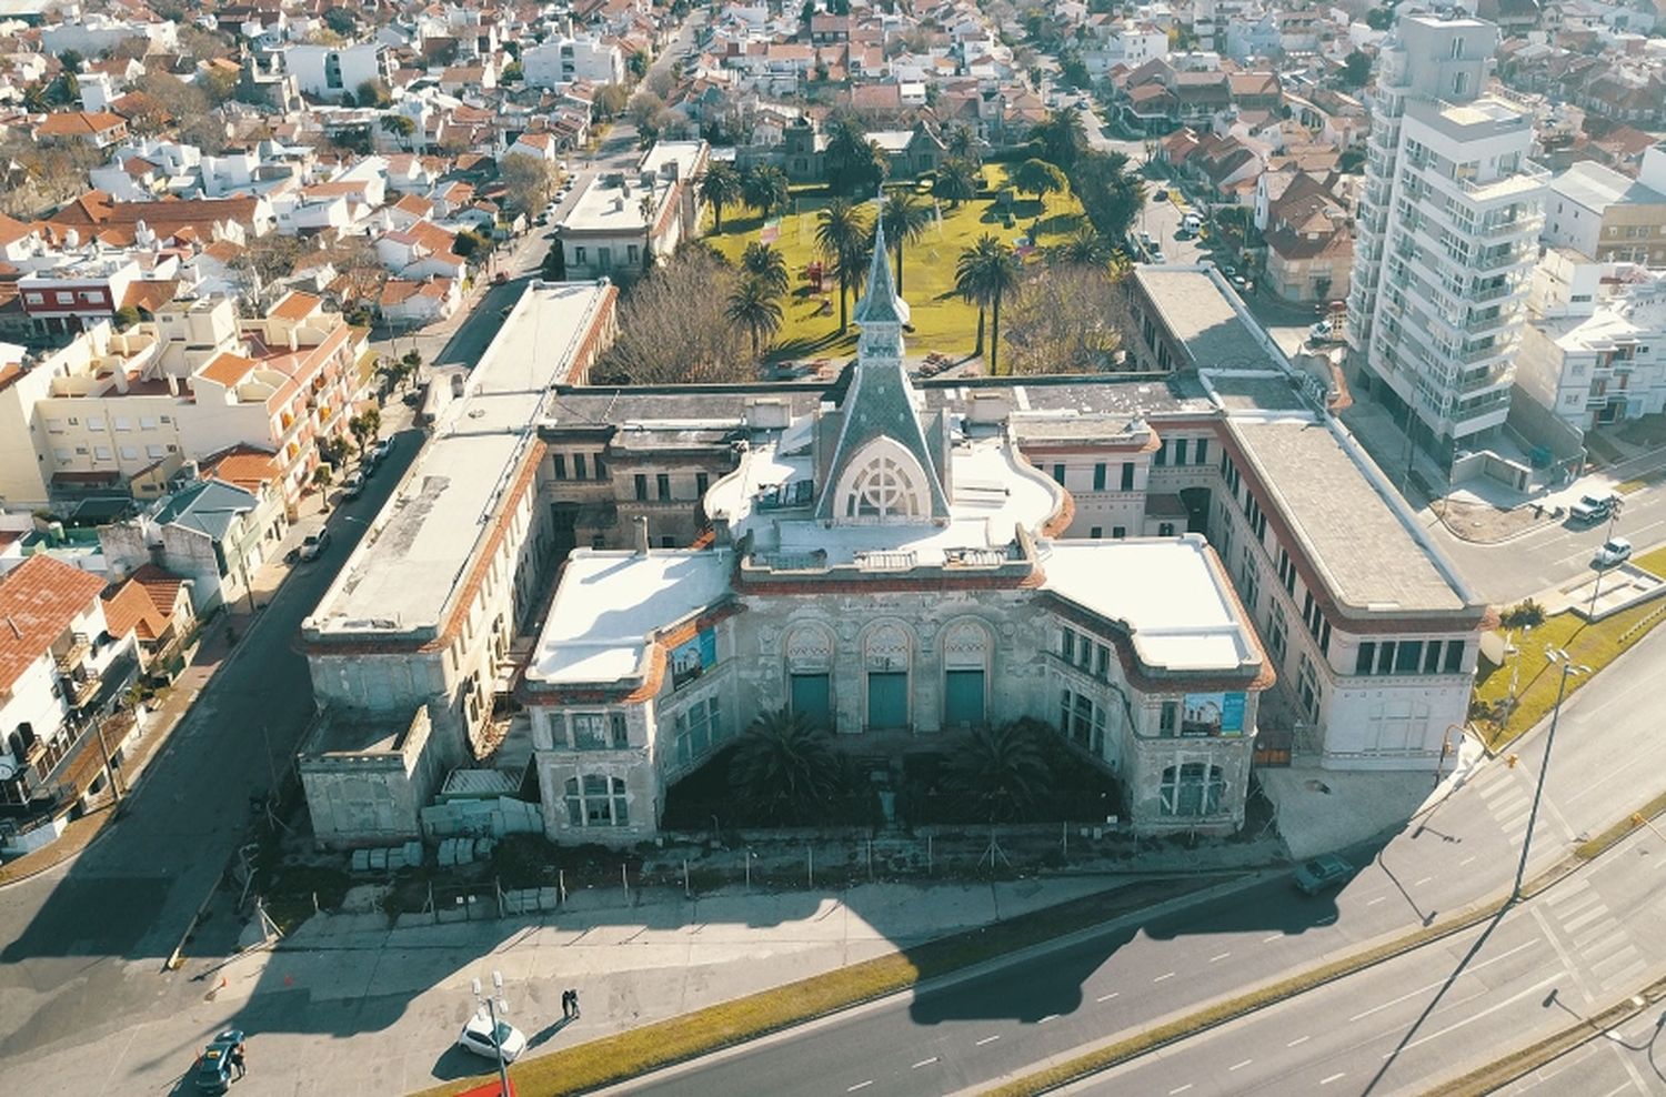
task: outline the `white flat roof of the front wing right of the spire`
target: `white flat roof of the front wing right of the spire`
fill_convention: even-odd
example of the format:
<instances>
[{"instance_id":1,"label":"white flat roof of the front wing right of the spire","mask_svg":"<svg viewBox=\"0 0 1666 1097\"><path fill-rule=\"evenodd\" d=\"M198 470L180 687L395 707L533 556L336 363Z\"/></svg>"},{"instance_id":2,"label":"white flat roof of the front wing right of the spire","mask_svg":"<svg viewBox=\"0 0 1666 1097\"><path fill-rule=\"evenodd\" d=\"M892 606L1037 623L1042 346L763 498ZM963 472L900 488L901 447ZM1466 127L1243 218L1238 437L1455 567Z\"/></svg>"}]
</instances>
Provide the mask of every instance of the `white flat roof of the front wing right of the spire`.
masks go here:
<instances>
[{"instance_id":1,"label":"white flat roof of the front wing right of the spire","mask_svg":"<svg viewBox=\"0 0 1666 1097\"><path fill-rule=\"evenodd\" d=\"M1201 536L1051 541L1043 589L1128 626L1135 653L1168 671L1240 671L1258 658Z\"/></svg>"}]
</instances>

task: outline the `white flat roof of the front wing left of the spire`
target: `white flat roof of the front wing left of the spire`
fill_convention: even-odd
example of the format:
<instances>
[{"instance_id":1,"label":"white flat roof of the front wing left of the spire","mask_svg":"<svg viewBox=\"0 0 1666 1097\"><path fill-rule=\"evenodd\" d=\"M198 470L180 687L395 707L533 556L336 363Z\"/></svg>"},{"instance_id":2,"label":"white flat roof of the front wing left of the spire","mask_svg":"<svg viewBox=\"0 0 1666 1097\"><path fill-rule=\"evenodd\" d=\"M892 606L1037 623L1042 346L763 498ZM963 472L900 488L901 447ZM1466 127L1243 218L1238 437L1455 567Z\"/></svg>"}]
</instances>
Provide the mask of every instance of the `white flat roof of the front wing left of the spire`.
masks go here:
<instances>
[{"instance_id":1,"label":"white flat roof of the front wing left of the spire","mask_svg":"<svg viewBox=\"0 0 1666 1097\"><path fill-rule=\"evenodd\" d=\"M631 678L650 634L723 598L733 568L728 549L573 549L526 679L576 686Z\"/></svg>"}]
</instances>

